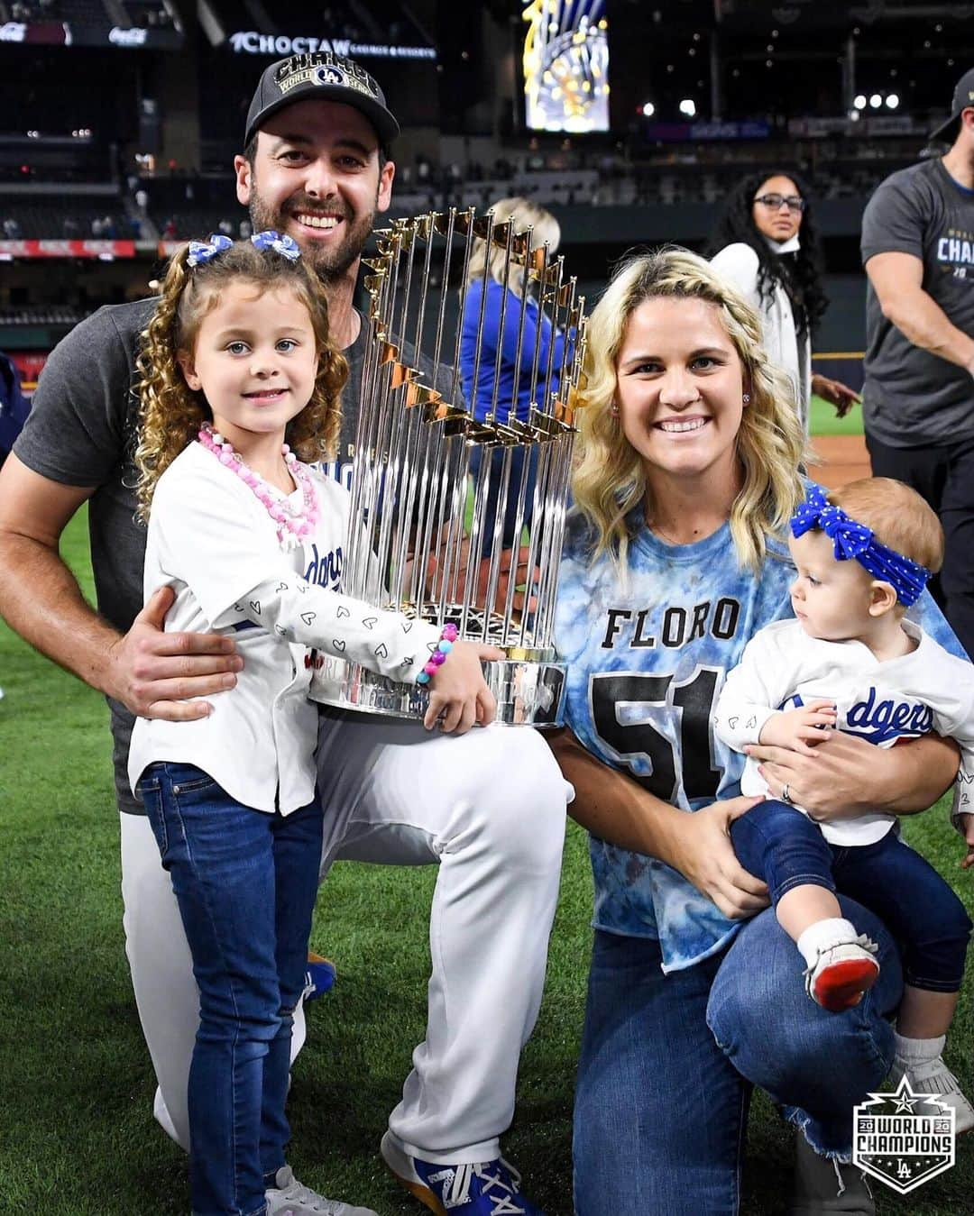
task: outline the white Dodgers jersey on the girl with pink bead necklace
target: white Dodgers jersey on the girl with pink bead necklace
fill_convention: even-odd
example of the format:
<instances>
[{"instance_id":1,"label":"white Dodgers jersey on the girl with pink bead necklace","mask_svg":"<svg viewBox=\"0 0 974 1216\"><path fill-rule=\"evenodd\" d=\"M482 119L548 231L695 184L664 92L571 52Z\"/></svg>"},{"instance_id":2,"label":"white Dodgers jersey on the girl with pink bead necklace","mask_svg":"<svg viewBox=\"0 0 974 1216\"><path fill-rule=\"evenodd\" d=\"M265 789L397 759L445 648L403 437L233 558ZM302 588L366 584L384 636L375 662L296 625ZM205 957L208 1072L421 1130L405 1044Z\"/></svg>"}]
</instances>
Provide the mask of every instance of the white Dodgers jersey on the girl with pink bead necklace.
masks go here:
<instances>
[{"instance_id":1,"label":"white Dodgers jersey on the girl with pink bead necklace","mask_svg":"<svg viewBox=\"0 0 974 1216\"><path fill-rule=\"evenodd\" d=\"M171 586L165 631L235 637L236 687L206 698L192 722L137 719L129 751L133 789L159 760L202 769L232 798L287 815L315 792L317 705L308 700L308 647L413 683L440 631L338 592L350 499L309 471L319 503L315 534L289 552L266 508L232 469L190 444L159 478L152 500L145 597ZM281 495L285 499L285 495ZM300 505L302 491L292 495Z\"/></svg>"}]
</instances>

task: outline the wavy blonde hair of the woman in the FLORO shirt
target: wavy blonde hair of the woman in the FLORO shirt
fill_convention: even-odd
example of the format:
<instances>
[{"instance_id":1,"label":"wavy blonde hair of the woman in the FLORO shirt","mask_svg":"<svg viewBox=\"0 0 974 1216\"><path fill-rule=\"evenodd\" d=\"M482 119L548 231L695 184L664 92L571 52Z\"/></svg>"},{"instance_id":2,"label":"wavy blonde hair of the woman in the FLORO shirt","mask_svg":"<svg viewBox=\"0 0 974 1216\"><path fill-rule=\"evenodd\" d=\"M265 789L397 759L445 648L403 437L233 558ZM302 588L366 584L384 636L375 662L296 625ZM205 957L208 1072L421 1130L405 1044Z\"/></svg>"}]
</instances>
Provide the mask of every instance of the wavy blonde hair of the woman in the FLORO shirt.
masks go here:
<instances>
[{"instance_id":1,"label":"wavy blonde hair of the woman in the FLORO shirt","mask_svg":"<svg viewBox=\"0 0 974 1216\"><path fill-rule=\"evenodd\" d=\"M589 320L587 379L573 491L595 529L592 558L608 552L620 567L625 565L629 541L635 535L627 517L638 506L646 518L653 514L643 460L623 434L612 405L629 319L644 300L658 298L713 304L741 359L750 405L737 433L744 484L731 508L731 534L742 567L756 570L765 556L766 537L784 533L804 495L798 466L805 456L805 435L794 388L787 373L768 361L754 309L708 261L676 247L629 257Z\"/></svg>"}]
</instances>

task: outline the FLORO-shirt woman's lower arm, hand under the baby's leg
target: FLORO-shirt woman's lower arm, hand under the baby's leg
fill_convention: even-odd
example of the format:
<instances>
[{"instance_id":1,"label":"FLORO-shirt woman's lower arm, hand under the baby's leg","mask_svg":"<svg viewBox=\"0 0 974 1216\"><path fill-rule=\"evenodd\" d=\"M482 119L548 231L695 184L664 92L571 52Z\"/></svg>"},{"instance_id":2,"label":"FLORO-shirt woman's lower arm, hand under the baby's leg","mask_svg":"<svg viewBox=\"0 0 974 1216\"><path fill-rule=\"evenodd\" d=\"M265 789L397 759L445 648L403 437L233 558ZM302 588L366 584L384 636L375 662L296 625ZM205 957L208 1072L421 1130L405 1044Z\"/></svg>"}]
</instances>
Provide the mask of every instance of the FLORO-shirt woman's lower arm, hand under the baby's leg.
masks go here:
<instances>
[{"instance_id":1,"label":"FLORO-shirt woman's lower arm, hand under the baby's leg","mask_svg":"<svg viewBox=\"0 0 974 1216\"><path fill-rule=\"evenodd\" d=\"M760 799L730 798L691 815L602 764L569 730L545 738L575 787L569 815L592 835L665 861L725 916L748 917L767 907L767 888L741 866L728 834L731 821Z\"/></svg>"}]
</instances>

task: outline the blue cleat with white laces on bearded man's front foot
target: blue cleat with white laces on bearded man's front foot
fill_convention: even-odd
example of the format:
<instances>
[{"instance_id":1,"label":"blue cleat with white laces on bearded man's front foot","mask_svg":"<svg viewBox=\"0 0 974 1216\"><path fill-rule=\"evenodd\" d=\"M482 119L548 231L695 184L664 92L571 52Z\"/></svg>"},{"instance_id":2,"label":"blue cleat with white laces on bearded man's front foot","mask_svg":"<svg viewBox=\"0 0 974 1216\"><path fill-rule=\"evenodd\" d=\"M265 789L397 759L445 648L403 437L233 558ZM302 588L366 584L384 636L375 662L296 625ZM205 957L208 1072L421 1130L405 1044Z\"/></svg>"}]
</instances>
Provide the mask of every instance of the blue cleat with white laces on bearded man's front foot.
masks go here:
<instances>
[{"instance_id":1,"label":"blue cleat with white laces on bearded man's front foot","mask_svg":"<svg viewBox=\"0 0 974 1216\"><path fill-rule=\"evenodd\" d=\"M502 1156L438 1165L410 1156L392 1132L382 1137L381 1152L396 1181L437 1216L545 1216L520 1194L520 1175Z\"/></svg>"}]
</instances>

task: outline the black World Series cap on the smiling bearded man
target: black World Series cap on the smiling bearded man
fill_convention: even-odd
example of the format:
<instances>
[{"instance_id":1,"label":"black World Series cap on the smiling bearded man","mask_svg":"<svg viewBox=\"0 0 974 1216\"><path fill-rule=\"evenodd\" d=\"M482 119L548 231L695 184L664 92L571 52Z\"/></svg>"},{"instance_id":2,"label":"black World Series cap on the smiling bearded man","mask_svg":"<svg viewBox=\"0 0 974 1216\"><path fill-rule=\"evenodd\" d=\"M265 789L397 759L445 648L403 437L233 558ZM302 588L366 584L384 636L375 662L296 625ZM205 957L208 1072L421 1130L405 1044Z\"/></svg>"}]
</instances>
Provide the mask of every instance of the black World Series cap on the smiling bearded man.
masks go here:
<instances>
[{"instance_id":1,"label":"black World Series cap on the smiling bearded man","mask_svg":"<svg viewBox=\"0 0 974 1216\"><path fill-rule=\"evenodd\" d=\"M289 55L264 69L247 111L243 146L271 114L309 98L340 101L357 109L376 128L384 148L399 135L399 123L385 105L385 95L365 68L343 55L314 51Z\"/></svg>"}]
</instances>

